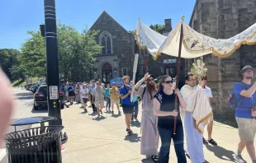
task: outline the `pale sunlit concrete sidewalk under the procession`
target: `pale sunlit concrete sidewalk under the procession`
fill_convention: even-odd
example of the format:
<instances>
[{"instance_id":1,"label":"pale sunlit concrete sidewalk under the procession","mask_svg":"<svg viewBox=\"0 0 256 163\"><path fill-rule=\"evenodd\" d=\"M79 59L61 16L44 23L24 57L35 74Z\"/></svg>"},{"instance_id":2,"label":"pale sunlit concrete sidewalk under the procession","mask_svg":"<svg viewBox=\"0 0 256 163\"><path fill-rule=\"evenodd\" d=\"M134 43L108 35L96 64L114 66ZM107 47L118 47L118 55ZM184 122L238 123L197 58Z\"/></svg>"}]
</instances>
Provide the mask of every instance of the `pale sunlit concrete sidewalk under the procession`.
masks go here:
<instances>
[{"instance_id":1,"label":"pale sunlit concrete sidewalk under the procession","mask_svg":"<svg viewBox=\"0 0 256 163\"><path fill-rule=\"evenodd\" d=\"M64 163L140 163L145 159L145 156L140 155L140 123L131 123L134 133L128 136L124 114L118 116L117 111L113 116L104 113L99 119L96 114L92 114L92 108L88 108L89 113L84 114L80 106L72 105L62 110L64 131L69 136L69 142L64 145L66 151L62 153ZM141 105L139 118L140 112ZM239 140L237 129L215 123L213 137L219 146L204 145L206 162L234 162L232 154ZM250 162L246 150L243 156ZM177 162L173 146L169 162ZM187 162L190 162L188 158Z\"/></svg>"}]
</instances>

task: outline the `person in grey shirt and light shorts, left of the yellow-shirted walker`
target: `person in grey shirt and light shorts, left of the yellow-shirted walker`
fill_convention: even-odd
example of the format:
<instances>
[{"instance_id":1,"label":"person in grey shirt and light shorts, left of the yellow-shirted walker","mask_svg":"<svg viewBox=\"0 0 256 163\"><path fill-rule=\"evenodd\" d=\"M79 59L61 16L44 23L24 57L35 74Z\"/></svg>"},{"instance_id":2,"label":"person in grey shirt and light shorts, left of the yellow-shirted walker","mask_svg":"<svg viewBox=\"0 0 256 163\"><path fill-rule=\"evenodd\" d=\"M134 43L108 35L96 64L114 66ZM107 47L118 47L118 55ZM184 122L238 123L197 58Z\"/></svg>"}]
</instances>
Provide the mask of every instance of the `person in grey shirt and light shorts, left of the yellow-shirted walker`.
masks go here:
<instances>
[{"instance_id":1,"label":"person in grey shirt and light shorts, left of the yellow-shirted walker","mask_svg":"<svg viewBox=\"0 0 256 163\"><path fill-rule=\"evenodd\" d=\"M99 81L96 82L96 88L93 89L92 95L93 95L92 99L95 99L92 102L92 104L95 104L97 108L97 115L98 117L100 117L100 114L103 114L102 109L104 108L104 100L105 100L106 94L102 86L100 86Z\"/></svg>"}]
</instances>

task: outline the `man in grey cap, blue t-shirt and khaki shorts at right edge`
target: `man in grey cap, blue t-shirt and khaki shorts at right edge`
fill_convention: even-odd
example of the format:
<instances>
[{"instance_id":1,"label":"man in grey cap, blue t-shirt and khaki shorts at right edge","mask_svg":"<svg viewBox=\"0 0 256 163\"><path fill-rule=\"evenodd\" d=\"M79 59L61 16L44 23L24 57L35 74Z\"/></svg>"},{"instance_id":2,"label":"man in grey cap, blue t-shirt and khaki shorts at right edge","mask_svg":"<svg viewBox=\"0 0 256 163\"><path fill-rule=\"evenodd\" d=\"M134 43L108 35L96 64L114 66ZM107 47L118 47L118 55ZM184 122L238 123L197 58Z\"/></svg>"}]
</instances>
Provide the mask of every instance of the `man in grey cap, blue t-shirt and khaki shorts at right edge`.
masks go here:
<instances>
[{"instance_id":1,"label":"man in grey cap, blue t-shirt and khaki shorts at right edge","mask_svg":"<svg viewBox=\"0 0 256 163\"><path fill-rule=\"evenodd\" d=\"M237 152L233 155L235 161L244 163L241 156L244 147L246 147L253 163L256 163L254 137L256 133L256 111L254 109L256 100L256 82L252 83L254 77L254 68L247 65L241 71L243 80L235 83L233 91L238 101L235 109L235 120L238 124L239 144Z\"/></svg>"}]
</instances>

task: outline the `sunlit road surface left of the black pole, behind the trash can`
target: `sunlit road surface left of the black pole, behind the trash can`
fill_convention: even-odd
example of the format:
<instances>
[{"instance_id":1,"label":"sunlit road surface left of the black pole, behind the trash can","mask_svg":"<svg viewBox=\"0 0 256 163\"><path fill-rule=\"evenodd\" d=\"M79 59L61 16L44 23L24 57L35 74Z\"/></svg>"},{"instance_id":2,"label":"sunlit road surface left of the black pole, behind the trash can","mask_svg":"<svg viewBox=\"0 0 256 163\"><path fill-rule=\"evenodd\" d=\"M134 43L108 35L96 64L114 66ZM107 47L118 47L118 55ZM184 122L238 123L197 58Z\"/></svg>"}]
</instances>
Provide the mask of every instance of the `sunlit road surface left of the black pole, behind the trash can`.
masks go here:
<instances>
[{"instance_id":1,"label":"sunlit road surface left of the black pole, behind the trash can","mask_svg":"<svg viewBox=\"0 0 256 163\"><path fill-rule=\"evenodd\" d=\"M35 116L47 116L47 109L33 110L33 93L31 91L22 90L19 88L13 88L13 94L15 95L15 111L12 114L12 121L18 119L25 119ZM31 125L17 127L17 130L23 130L31 128ZM7 133L14 132L14 127L8 127ZM7 163L5 143L2 142L0 146L0 163Z\"/></svg>"}]
</instances>

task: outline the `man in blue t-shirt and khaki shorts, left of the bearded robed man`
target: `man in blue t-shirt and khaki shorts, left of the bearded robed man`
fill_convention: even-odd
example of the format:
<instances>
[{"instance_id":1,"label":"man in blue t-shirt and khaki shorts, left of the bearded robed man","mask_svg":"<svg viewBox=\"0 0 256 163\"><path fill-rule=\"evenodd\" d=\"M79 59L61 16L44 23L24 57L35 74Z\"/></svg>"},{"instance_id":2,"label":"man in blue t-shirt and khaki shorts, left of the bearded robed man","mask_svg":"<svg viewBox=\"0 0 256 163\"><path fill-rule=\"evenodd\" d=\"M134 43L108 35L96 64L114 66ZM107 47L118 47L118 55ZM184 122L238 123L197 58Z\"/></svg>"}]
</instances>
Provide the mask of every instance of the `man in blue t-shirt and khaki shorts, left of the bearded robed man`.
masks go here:
<instances>
[{"instance_id":1,"label":"man in blue t-shirt and khaki shorts, left of the bearded robed man","mask_svg":"<svg viewBox=\"0 0 256 163\"><path fill-rule=\"evenodd\" d=\"M126 116L126 132L128 134L132 133L130 130L130 122L131 122L131 117L133 113L133 108L134 108L134 103L133 101L130 102L130 92L131 92L131 86L130 86L130 77L125 76L122 77L122 80L124 81L124 86L121 86L121 89L119 91L121 95L121 105L124 111L124 114Z\"/></svg>"}]
</instances>

